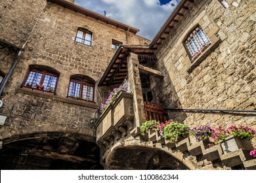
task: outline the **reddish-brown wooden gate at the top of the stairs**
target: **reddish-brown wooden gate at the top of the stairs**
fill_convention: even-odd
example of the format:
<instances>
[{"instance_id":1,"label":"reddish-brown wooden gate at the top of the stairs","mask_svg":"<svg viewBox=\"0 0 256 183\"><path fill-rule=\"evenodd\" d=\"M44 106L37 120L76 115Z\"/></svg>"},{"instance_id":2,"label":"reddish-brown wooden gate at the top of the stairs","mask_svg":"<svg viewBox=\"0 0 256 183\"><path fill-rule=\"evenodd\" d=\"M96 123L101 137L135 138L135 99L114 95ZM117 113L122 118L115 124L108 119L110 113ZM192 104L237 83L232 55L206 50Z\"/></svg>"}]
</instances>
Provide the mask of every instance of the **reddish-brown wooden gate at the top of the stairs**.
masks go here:
<instances>
[{"instance_id":1,"label":"reddish-brown wooden gate at the top of the stairs","mask_svg":"<svg viewBox=\"0 0 256 183\"><path fill-rule=\"evenodd\" d=\"M158 107L157 105L144 102L146 120L157 120L160 122L167 121L167 114L163 108Z\"/></svg>"}]
</instances>

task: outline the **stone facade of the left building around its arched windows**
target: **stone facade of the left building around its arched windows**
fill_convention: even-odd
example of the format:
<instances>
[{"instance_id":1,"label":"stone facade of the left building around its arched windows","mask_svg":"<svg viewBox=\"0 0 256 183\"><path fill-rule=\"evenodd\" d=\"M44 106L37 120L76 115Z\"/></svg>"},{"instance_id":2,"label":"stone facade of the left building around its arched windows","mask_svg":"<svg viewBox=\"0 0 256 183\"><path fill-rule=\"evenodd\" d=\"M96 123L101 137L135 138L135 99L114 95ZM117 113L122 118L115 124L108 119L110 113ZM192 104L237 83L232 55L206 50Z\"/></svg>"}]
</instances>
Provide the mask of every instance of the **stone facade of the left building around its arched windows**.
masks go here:
<instances>
[{"instance_id":1,"label":"stone facade of the left building around its arched windows","mask_svg":"<svg viewBox=\"0 0 256 183\"><path fill-rule=\"evenodd\" d=\"M9 8L9 11L1 12L1 16L4 17L1 25L6 25L1 32L1 39L22 46L32 30L30 27L35 24L35 12L40 12L40 17L1 96L4 105L0 108L0 114L8 118L0 129L0 139L40 131L79 133L93 137L95 134L91 123L95 118L100 93L97 91L96 83L115 53L111 48L112 39L126 43L128 34L130 44L144 44L149 41L53 3L47 3L43 9L44 1L28 1L28 4L23 1L16 2L18 4L15 2L13 5L9 3L10 6L23 8L22 12L26 12L20 14L22 26L26 29L17 27L20 24L8 24L13 22L17 14L16 8ZM38 7L34 7L35 5ZM84 27L93 32L92 46L75 42L77 27ZM5 74L9 72L15 56L15 53L1 49L0 70ZM30 65L51 67L60 73L56 95L20 89ZM95 80L96 104L66 98L72 75L87 75Z\"/></svg>"}]
</instances>

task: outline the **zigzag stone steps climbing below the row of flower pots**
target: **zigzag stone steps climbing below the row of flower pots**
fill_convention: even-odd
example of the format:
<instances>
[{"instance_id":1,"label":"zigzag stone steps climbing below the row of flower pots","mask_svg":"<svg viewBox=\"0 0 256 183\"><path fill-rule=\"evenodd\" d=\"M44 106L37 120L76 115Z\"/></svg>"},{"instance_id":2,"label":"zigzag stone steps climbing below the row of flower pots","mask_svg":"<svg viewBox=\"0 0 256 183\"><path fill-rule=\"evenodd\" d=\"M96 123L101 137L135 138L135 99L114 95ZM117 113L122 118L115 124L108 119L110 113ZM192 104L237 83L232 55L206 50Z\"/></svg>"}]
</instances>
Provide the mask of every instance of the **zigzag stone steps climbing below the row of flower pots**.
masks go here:
<instances>
[{"instance_id":1,"label":"zigzag stone steps climbing below the row of flower pots","mask_svg":"<svg viewBox=\"0 0 256 183\"><path fill-rule=\"evenodd\" d=\"M136 127L131 131L131 135L136 138L140 135L140 128ZM171 143L161 137L159 131L148 131L143 137L144 141L151 141L153 144L160 144L161 148L168 148L169 150L179 151L182 153L189 152L191 156L202 156L207 161L221 161L226 167L236 167L238 165L244 166L245 169L256 169L256 158L249 156L249 152L253 146L249 146L250 150L244 148L235 149L232 152L224 152L221 144L208 147L209 142L200 141L196 142L191 137L186 139L179 139L177 143Z\"/></svg>"}]
</instances>

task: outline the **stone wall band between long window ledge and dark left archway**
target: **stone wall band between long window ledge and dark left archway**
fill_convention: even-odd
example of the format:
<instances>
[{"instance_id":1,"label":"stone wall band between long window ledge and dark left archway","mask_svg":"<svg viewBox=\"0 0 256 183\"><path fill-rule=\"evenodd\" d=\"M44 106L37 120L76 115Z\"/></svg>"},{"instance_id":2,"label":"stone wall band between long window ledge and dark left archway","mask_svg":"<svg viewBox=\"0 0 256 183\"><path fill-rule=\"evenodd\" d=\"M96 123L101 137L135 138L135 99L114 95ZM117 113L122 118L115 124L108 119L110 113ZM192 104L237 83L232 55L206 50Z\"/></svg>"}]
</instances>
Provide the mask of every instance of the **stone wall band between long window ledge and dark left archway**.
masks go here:
<instances>
[{"instance_id":1,"label":"stone wall band between long window ledge and dark left archway","mask_svg":"<svg viewBox=\"0 0 256 183\"><path fill-rule=\"evenodd\" d=\"M8 115L8 120L0 129L1 139L40 133L80 134L89 139L94 136L96 105L18 88L11 99L5 97L3 102L0 112Z\"/></svg>"}]
</instances>

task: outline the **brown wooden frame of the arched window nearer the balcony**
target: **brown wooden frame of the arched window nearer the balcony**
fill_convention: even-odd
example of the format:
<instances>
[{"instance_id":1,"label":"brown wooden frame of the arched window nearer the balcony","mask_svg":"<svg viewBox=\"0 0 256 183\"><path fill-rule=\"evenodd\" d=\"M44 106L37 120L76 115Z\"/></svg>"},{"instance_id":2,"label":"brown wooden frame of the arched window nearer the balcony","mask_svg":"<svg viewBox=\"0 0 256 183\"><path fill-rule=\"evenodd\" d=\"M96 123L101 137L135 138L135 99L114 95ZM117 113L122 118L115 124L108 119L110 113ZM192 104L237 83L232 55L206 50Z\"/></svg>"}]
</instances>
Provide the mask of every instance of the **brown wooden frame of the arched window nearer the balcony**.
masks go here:
<instances>
[{"instance_id":1,"label":"brown wooden frame of the arched window nearer the balcony","mask_svg":"<svg viewBox=\"0 0 256 183\"><path fill-rule=\"evenodd\" d=\"M79 88L79 97L81 97L81 98L79 98L79 100L81 100L81 101L88 101L88 102L91 102L91 103L95 103L95 84L83 81L83 79L85 79L85 78L81 78L81 77L77 77L77 78L81 79L81 81L76 80L75 78L70 78L70 82L76 82L76 83L80 84L80 88ZM92 101L83 99L83 86L84 86L84 85L85 85L85 86L91 86L91 87L93 87L93 100L92 100ZM74 96L71 96L71 95L70 95L70 83L68 84L68 98L74 98Z\"/></svg>"}]
</instances>

